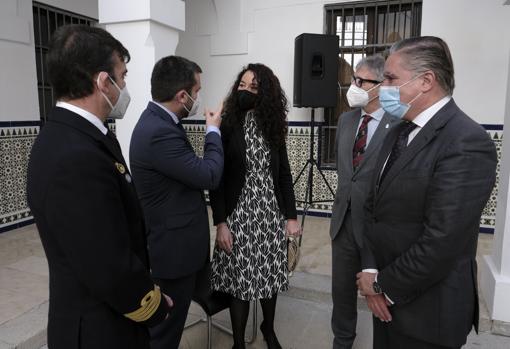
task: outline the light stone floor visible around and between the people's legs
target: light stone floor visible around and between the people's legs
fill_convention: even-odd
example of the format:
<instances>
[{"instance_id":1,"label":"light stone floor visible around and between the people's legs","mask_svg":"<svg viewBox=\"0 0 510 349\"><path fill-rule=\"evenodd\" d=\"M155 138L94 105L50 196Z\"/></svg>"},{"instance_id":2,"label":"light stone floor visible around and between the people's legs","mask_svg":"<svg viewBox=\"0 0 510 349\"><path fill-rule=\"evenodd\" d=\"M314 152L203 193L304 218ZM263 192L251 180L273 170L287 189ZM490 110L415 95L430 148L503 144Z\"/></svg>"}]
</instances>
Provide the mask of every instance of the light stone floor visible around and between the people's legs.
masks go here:
<instances>
[{"instance_id":1,"label":"light stone floor visible around and between the people's legs","mask_svg":"<svg viewBox=\"0 0 510 349\"><path fill-rule=\"evenodd\" d=\"M276 331L284 348L330 348L331 247L329 219L307 217L302 258L291 278L291 288L278 300ZM212 231L212 238L214 232ZM478 255L490 254L492 235L480 235ZM34 225L0 234L0 349L38 349L45 345L48 309L48 268ZM356 349L371 348L371 316L364 301L359 302ZM482 304L482 308L485 308ZM260 309L259 309L260 314ZM202 316L193 305L189 321ZM228 312L214 320L230 327ZM259 316L258 323L261 318ZM251 324L248 324L248 329ZM486 310L482 313L482 332L471 334L465 348L510 348L510 337L492 335ZM247 329L247 334L249 330ZM265 348L258 332L249 348ZM231 337L213 329L213 348L230 348ZM180 349L206 348L206 325L185 330Z\"/></svg>"}]
</instances>

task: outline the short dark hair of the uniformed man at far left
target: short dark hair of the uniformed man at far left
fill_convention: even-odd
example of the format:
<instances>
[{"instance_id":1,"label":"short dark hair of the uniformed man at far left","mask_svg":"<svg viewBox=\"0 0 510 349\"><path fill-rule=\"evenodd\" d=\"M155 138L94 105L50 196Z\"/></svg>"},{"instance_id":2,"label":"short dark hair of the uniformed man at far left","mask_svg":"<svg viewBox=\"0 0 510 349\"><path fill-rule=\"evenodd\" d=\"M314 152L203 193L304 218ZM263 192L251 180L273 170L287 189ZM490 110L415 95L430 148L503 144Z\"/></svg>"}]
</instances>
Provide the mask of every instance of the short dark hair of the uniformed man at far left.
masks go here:
<instances>
[{"instance_id":1,"label":"short dark hair of the uniformed man at far left","mask_svg":"<svg viewBox=\"0 0 510 349\"><path fill-rule=\"evenodd\" d=\"M55 97L77 99L94 92L94 75L107 72L114 75L114 55L129 62L128 50L110 33L86 25L66 25L58 28L49 43L46 57L48 76Z\"/></svg>"}]
</instances>

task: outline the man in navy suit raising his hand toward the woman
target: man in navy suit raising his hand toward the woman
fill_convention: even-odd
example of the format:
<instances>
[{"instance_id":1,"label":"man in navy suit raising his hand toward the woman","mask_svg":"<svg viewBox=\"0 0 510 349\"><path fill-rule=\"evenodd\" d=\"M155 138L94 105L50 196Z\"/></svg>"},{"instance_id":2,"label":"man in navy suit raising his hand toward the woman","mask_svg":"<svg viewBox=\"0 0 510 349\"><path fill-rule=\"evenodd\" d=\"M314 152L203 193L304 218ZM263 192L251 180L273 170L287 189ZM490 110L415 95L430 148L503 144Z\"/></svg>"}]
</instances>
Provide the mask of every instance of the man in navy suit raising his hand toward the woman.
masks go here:
<instances>
[{"instance_id":1,"label":"man in navy suit raising his hand toward the woman","mask_svg":"<svg viewBox=\"0 0 510 349\"><path fill-rule=\"evenodd\" d=\"M197 272L209 262L209 220L204 189L223 171L221 108L206 113L204 156L198 157L181 125L199 107L200 67L168 56L154 66L153 101L131 138L134 181L147 221L152 275L175 302L168 319L151 330L153 349L179 346Z\"/></svg>"}]
</instances>

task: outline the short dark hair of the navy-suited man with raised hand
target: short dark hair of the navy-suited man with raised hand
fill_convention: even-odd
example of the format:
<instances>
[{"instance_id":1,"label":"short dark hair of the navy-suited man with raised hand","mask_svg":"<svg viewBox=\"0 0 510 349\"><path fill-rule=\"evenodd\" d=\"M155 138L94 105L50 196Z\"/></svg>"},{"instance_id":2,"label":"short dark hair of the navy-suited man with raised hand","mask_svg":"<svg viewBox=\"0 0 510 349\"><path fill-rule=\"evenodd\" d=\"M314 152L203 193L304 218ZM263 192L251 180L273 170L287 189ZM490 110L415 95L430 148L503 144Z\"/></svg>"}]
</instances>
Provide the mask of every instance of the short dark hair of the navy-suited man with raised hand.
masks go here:
<instances>
[{"instance_id":1,"label":"short dark hair of the navy-suited man with raised hand","mask_svg":"<svg viewBox=\"0 0 510 349\"><path fill-rule=\"evenodd\" d=\"M180 90L186 90L191 95L191 89L197 83L195 74L201 72L198 64L184 57L161 58L152 70L152 99L160 103L168 102Z\"/></svg>"}]
</instances>

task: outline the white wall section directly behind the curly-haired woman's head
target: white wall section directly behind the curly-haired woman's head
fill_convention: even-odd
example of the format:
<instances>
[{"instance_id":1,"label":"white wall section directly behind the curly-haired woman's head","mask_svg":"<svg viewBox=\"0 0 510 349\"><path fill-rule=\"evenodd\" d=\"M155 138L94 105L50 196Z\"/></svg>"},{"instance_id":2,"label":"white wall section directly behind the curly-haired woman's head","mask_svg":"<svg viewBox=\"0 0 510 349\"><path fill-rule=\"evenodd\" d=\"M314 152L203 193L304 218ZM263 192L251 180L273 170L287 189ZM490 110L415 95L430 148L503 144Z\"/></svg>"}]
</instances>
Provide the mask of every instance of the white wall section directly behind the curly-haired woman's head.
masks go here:
<instances>
[{"instance_id":1,"label":"white wall section directly behind the curly-haired woman's head","mask_svg":"<svg viewBox=\"0 0 510 349\"><path fill-rule=\"evenodd\" d=\"M177 55L203 69L204 106L215 107L241 68L260 62L280 79L292 104L294 38L324 33L324 4L319 0L187 0L186 31ZM292 109L289 120L308 120L309 109Z\"/></svg>"}]
</instances>

